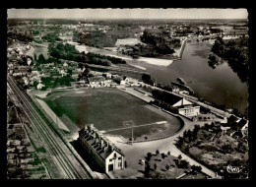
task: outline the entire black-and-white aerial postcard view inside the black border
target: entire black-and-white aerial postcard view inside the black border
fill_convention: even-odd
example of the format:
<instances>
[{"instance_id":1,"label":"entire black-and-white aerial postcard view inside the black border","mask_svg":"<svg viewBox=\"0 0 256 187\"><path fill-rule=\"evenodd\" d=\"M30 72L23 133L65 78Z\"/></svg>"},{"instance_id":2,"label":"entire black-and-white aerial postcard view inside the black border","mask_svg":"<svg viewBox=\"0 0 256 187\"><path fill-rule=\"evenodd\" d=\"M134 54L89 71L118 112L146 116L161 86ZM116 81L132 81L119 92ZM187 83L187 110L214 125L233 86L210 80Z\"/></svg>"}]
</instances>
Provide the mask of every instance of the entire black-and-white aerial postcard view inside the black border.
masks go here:
<instances>
[{"instance_id":1,"label":"entire black-and-white aerial postcard view inside the black border","mask_svg":"<svg viewBox=\"0 0 256 187\"><path fill-rule=\"evenodd\" d=\"M247 9L6 12L7 179L249 178Z\"/></svg>"}]
</instances>

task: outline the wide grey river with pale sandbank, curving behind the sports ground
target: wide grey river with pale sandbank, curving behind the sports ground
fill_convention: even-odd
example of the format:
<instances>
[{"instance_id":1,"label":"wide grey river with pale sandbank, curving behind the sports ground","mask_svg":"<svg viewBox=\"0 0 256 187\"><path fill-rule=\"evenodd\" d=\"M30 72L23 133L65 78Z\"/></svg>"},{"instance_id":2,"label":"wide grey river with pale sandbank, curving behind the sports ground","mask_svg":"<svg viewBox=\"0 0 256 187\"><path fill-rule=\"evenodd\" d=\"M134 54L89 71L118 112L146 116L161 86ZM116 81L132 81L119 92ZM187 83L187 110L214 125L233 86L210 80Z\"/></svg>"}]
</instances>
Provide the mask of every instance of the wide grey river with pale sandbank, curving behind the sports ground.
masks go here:
<instances>
[{"instance_id":1,"label":"wide grey river with pale sandbank, curving behind the sports ground","mask_svg":"<svg viewBox=\"0 0 256 187\"><path fill-rule=\"evenodd\" d=\"M128 64L146 68L158 83L169 84L178 77L185 80L195 94L205 100L222 105L226 108L237 108L244 113L248 104L248 87L242 83L226 62L215 69L208 65L208 54L212 48L209 41L187 42L181 60L170 61L152 58L138 60L116 54L111 50L97 49L85 45L76 45L79 51L96 52L123 58ZM113 48L114 49L114 48ZM156 64L160 65L156 65Z\"/></svg>"}]
</instances>

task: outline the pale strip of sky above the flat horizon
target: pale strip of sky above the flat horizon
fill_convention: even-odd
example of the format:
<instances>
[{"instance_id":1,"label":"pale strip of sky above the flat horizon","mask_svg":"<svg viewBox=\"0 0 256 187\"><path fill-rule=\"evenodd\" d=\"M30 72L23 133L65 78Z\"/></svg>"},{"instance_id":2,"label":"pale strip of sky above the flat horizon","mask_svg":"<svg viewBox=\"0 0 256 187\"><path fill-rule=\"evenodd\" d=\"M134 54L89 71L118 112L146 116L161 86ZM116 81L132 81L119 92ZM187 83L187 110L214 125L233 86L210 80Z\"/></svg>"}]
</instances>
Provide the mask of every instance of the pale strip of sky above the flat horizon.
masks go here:
<instances>
[{"instance_id":1,"label":"pale strip of sky above the flat horizon","mask_svg":"<svg viewBox=\"0 0 256 187\"><path fill-rule=\"evenodd\" d=\"M246 9L8 9L8 18L247 19Z\"/></svg>"}]
</instances>

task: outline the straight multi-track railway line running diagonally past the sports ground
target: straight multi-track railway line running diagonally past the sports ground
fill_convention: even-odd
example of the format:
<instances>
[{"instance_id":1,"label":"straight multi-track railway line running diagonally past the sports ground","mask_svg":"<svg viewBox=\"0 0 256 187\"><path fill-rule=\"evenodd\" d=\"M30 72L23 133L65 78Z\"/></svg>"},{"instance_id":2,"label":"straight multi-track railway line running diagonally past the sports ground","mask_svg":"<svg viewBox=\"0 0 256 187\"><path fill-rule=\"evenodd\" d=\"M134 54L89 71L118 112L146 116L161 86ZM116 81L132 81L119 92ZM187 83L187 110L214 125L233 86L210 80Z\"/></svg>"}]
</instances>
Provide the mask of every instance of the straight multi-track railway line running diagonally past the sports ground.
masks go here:
<instances>
[{"instance_id":1,"label":"straight multi-track railway line running diagonally past the sports ground","mask_svg":"<svg viewBox=\"0 0 256 187\"><path fill-rule=\"evenodd\" d=\"M32 129L48 148L49 153L55 159L56 165L60 168L65 177L68 179L92 178L91 174L80 165L65 143L52 132L47 124L47 119L43 117L38 108L33 104L31 98L18 88L11 77L8 76L7 81L8 87L10 87L20 99L22 107L31 122Z\"/></svg>"}]
</instances>

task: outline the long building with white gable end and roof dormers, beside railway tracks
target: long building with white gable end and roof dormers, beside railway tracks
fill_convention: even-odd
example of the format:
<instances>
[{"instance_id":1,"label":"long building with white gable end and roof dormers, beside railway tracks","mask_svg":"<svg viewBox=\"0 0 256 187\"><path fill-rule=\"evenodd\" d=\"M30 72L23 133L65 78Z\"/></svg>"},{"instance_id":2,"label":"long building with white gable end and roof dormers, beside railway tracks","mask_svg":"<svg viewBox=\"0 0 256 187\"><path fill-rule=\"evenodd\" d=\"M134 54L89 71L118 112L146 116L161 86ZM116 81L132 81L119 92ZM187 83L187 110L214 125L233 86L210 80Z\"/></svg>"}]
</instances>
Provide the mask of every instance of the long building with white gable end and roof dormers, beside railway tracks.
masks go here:
<instances>
[{"instance_id":1,"label":"long building with white gable end and roof dormers, beside railway tracks","mask_svg":"<svg viewBox=\"0 0 256 187\"><path fill-rule=\"evenodd\" d=\"M79 131L79 143L105 172L124 169L124 154L98 132L93 124L86 125Z\"/></svg>"}]
</instances>

